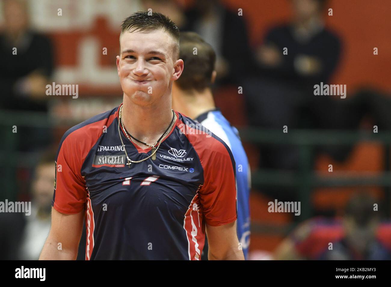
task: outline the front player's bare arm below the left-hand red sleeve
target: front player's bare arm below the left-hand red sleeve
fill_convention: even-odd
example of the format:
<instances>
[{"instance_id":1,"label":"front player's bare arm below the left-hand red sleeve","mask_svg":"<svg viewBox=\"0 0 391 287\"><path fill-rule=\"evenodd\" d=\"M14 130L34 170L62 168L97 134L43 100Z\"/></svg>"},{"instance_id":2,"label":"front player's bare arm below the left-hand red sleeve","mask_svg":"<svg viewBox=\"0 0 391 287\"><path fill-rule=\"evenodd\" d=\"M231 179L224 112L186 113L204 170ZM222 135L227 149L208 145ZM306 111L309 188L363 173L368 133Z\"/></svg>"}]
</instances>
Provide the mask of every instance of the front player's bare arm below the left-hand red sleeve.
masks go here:
<instances>
[{"instance_id":1,"label":"front player's bare arm below the left-hand red sleeve","mask_svg":"<svg viewBox=\"0 0 391 287\"><path fill-rule=\"evenodd\" d=\"M52 208L52 226L39 260L75 260L83 229L84 210L63 214ZM59 250L59 243L61 249Z\"/></svg>"}]
</instances>

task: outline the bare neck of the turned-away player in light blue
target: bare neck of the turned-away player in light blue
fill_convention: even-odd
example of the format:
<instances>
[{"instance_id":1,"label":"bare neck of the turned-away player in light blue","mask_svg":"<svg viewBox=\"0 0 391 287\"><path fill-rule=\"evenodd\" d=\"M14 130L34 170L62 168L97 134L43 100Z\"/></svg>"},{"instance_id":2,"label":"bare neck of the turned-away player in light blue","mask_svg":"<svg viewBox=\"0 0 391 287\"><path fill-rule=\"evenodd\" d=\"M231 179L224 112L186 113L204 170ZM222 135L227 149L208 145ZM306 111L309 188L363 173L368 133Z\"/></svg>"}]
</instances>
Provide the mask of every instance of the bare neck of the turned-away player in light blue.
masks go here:
<instances>
[{"instance_id":1,"label":"bare neck of the turned-away player in light blue","mask_svg":"<svg viewBox=\"0 0 391 287\"><path fill-rule=\"evenodd\" d=\"M197 91L192 93L179 91L179 93L181 93L181 96L176 99L175 108L192 119L216 108L210 89L205 89L201 93Z\"/></svg>"}]
</instances>

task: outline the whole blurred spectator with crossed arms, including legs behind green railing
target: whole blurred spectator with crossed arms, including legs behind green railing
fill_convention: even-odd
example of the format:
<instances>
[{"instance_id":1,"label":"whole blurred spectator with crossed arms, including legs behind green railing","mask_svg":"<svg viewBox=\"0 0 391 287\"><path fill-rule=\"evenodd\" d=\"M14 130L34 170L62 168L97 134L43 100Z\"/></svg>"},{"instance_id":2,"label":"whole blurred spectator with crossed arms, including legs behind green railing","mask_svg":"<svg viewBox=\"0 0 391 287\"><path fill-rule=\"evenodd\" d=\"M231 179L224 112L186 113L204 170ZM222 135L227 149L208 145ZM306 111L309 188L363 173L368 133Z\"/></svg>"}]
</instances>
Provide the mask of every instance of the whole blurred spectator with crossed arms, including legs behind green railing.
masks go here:
<instances>
[{"instance_id":1,"label":"whole blurred spectator with crossed arms, including legs behind green railing","mask_svg":"<svg viewBox=\"0 0 391 287\"><path fill-rule=\"evenodd\" d=\"M319 121L333 126L331 121L338 123L340 119L333 100L314 96L314 84L328 83L341 54L339 37L325 28L327 2L287 3L292 5L292 19L266 33L255 52L257 72L243 80L249 124L278 130L285 125L288 130L320 127ZM299 155L296 146L262 144L259 167L296 170ZM297 190L290 187L265 187L262 191L283 201L297 196Z\"/></svg>"}]
</instances>

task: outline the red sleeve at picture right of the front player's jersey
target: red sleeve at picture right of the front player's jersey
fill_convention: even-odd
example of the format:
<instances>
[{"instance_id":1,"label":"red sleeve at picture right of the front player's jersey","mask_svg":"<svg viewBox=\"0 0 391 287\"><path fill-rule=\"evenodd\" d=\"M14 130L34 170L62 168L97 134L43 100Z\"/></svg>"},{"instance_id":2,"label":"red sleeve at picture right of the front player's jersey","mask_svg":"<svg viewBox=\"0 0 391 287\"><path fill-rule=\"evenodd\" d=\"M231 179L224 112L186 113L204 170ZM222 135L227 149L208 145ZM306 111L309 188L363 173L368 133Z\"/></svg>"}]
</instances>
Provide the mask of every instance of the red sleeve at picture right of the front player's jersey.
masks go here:
<instances>
[{"instance_id":1,"label":"red sleeve at picture right of the front player's jersey","mask_svg":"<svg viewBox=\"0 0 391 287\"><path fill-rule=\"evenodd\" d=\"M201 158L204 184L199 190L205 222L219 226L237 219L235 160L228 146L211 137Z\"/></svg>"}]
</instances>

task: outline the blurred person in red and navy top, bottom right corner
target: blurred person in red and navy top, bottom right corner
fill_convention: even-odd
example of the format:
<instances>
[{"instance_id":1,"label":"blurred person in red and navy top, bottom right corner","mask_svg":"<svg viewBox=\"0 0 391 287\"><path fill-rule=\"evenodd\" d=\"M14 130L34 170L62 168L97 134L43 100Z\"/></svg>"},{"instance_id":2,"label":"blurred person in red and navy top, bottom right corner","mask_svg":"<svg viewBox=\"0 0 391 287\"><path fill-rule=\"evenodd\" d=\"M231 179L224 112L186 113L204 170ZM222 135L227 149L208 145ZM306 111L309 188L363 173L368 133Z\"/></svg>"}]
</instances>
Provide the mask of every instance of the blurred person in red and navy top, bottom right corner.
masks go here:
<instances>
[{"instance_id":1,"label":"blurred person in red and navy top, bottom right corner","mask_svg":"<svg viewBox=\"0 0 391 287\"><path fill-rule=\"evenodd\" d=\"M280 244L274 259L391 260L391 223L380 221L374 203L378 200L368 192L358 193L346 205L342 219L304 222Z\"/></svg>"}]
</instances>

